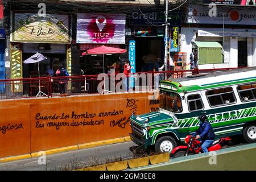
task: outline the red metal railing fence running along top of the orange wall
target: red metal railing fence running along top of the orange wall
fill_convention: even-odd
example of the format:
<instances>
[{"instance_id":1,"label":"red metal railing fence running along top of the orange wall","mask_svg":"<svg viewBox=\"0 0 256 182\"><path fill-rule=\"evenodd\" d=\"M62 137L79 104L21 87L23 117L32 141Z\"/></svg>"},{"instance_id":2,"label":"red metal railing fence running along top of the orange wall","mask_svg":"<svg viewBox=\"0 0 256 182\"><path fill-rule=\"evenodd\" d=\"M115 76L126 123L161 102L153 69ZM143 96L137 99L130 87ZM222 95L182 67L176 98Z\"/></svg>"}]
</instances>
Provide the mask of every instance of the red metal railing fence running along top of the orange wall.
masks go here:
<instances>
[{"instance_id":1,"label":"red metal railing fence running along top of the orange wall","mask_svg":"<svg viewBox=\"0 0 256 182\"><path fill-rule=\"evenodd\" d=\"M159 81L166 77L174 79L198 73L210 73L228 69L236 68L134 73L129 78L131 85L127 84L127 81L124 80L125 75L123 74L0 80L0 100L153 90L158 89ZM102 77L105 78L105 81Z\"/></svg>"}]
</instances>

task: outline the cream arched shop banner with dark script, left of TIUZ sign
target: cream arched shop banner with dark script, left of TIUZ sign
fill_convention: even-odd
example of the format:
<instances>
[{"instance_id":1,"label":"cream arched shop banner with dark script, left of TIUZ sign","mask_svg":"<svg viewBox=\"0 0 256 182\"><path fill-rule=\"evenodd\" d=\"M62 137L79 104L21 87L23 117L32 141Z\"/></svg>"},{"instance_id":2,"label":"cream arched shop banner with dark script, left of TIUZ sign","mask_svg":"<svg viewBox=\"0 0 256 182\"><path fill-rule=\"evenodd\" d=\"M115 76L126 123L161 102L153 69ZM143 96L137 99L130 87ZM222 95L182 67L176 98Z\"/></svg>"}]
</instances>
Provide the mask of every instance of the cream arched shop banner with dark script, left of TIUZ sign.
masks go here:
<instances>
[{"instance_id":1,"label":"cream arched shop banner with dark script, left of TIUZ sign","mask_svg":"<svg viewBox=\"0 0 256 182\"><path fill-rule=\"evenodd\" d=\"M68 15L15 14L11 42L71 43Z\"/></svg>"}]
</instances>

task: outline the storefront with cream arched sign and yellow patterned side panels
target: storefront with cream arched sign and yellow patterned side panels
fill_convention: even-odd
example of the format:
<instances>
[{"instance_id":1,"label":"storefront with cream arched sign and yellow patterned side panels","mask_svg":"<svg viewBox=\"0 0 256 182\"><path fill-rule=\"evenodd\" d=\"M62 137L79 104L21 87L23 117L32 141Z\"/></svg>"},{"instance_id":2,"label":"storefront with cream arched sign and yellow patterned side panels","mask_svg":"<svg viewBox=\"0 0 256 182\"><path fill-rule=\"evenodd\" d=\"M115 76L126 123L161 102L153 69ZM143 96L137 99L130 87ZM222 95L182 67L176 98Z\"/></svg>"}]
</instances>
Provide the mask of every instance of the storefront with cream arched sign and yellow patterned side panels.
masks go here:
<instances>
[{"instance_id":1,"label":"storefront with cream arched sign and yellow patterned side panels","mask_svg":"<svg viewBox=\"0 0 256 182\"><path fill-rule=\"evenodd\" d=\"M38 77L37 64L23 63L36 52L47 57L47 60L39 64L40 77L47 76L47 69L56 72L60 63L65 65L70 75L72 74L69 15L39 16L31 13L13 13L11 24L11 78ZM16 92L28 92L27 85L16 85L14 88Z\"/></svg>"}]
</instances>

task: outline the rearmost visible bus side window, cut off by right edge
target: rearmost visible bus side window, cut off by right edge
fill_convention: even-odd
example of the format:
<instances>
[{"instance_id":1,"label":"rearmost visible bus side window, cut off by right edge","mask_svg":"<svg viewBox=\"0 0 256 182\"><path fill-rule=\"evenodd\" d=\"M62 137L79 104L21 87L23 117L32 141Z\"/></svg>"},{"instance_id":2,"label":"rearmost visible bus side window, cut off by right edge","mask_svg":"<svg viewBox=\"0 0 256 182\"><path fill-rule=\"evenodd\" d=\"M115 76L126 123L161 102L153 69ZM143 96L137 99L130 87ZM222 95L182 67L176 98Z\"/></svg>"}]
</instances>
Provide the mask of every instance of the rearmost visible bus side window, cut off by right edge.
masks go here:
<instances>
[{"instance_id":1,"label":"rearmost visible bus side window, cut off by right edge","mask_svg":"<svg viewBox=\"0 0 256 182\"><path fill-rule=\"evenodd\" d=\"M237 86L237 92L242 102L255 100L256 84L247 84Z\"/></svg>"}]
</instances>

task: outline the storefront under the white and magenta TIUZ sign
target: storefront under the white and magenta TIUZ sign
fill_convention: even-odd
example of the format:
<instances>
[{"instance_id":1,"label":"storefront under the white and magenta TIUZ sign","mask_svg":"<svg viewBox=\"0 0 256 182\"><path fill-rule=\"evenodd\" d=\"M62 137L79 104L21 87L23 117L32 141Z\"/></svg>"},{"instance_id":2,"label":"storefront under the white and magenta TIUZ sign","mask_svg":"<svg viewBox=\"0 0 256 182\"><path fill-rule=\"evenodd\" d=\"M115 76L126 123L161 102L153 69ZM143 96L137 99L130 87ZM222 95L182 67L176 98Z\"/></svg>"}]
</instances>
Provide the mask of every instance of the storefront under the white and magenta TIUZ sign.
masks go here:
<instances>
[{"instance_id":1,"label":"storefront under the white and magenta TIUZ sign","mask_svg":"<svg viewBox=\"0 0 256 182\"><path fill-rule=\"evenodd\" d=\"M105 55L105 68L102 55L81 55L88 49L102 45L125 48L125 24L125 14L77 14L76 43L80 49L81 74L97 75L103 73L104 69L108 73L110 68L116 68L116 73L122 71L118 69L123 61L119 54Z\"/></svg>"}]
</instances>

